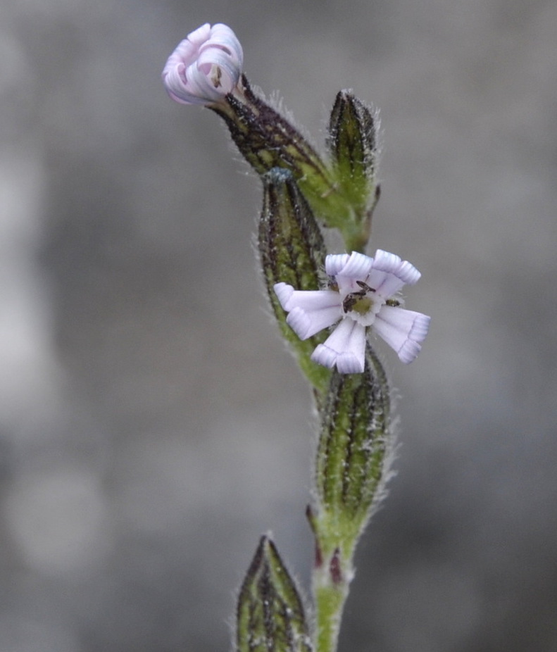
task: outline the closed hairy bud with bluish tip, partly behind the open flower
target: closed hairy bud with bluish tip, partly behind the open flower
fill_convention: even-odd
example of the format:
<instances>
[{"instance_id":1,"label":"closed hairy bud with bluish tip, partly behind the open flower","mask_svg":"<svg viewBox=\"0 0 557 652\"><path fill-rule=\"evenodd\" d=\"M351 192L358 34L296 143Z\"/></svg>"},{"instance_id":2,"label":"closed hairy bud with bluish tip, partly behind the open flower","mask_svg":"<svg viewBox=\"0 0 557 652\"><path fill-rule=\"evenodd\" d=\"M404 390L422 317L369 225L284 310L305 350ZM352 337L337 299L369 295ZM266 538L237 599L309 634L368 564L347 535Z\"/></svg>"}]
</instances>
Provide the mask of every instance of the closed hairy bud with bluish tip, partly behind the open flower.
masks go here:
<instances>
[{"instance_id":1,"label":"closed hairy bud with bluish tip, partly behind the open flower","mask_svg":"<svg viewBox=\"0 0 557 652\"><path fill-rule=\"evenodd\" d=\"M258 249L263 277L275 317L292 346L301 370L314 387L325 391L330 371L311 361L315 346L325 340L318 334L302 341L287 325L274 286L284 282L315 290L325 269L325 243L308 202L289 170L273 168L263 176L263 209L259 220Z\"/></svg>"}]
</instances>

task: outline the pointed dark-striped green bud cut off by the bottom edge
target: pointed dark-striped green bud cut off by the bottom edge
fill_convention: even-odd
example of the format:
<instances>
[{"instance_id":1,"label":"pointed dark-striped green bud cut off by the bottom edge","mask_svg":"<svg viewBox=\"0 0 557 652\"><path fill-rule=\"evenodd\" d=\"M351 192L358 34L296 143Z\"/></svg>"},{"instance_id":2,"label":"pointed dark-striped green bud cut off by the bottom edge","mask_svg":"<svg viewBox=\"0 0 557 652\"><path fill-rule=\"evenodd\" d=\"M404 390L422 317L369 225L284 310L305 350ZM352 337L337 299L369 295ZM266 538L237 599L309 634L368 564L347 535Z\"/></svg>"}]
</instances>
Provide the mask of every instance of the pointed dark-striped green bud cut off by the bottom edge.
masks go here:
<instances>
[{"instance_id":1,"label":"pointed dark-striped green bud cut off by the bottom edge","mask_svg":"<svg viewBox=\"0 0 557 652\"><path fill-rule=\"evenodd\" d=\"M238 597L237 652L311 652L296 584L263 536Z\"/></svg>"}]
</instances>

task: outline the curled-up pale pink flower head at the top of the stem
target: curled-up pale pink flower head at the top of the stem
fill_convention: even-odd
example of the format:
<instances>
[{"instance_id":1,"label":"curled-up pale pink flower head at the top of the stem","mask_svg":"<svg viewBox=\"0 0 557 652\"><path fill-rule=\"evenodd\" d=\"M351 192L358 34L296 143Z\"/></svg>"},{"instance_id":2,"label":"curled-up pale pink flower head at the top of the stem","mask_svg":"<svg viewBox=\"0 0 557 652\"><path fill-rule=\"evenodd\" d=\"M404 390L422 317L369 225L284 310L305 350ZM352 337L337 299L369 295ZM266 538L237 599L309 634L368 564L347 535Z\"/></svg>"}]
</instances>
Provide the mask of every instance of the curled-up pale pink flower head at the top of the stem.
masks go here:
<instances>
[{"instance_id":1,"label":"curled-up pale pink flower head at the top of the stem","mask_svg":"<svg viewBox=\"0 0 557 652\"><path fill-rule=\"evenodd\" d=\"M214 104L231 93L242 73L242 45L230 27L201 25L170 55L163 83L182 104Z\"/></svg>"}]
</instances>

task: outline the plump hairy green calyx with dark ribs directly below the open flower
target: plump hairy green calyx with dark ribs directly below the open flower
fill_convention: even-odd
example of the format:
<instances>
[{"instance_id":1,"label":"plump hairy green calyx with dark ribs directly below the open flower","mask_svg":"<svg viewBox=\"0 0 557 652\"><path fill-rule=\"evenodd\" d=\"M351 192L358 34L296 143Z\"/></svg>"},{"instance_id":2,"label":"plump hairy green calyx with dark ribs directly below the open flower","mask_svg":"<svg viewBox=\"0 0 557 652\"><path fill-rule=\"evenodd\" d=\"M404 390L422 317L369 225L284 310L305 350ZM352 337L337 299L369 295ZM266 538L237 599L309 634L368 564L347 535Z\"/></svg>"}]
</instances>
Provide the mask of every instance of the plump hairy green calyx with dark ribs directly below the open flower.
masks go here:
<instances>
[{"instance_id":1,"label":"plump hairy green calyx with dark ribs directly below the open flower","mask_svg":"<svg viewBox=\"0 0 557 652\"><path fill-rule=\"evenodd\" d=\"M389 387L370 346L362 374L332 375L321 415L313 527L324 552L349 551L382 497L394 446Z\"/></svg>"}]
</instances>

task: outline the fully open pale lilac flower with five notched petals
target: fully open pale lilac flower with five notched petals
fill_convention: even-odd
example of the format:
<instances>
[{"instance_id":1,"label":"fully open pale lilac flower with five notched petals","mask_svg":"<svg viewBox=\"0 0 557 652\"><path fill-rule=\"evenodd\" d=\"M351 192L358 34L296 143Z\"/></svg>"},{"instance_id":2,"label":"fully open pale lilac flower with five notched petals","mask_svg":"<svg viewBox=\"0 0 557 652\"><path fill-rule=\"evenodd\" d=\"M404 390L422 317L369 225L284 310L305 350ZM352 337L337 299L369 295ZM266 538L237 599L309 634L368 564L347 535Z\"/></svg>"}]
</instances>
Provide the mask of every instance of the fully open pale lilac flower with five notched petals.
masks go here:
<instances>
[{"instance_id":1,"label":"fully open pale lilac flower with five notched petals","mask_svg":"<svg viewBox=\"0 0 557 652\"><path fill-rule=\"evenodd\" d=\"M379 334L411 363L422 348L430 317L402 308L394 298L403 285L418 282L421 274L394 253L377 249L375 258L353 251L325 258L329 284L322 290L295 290L277 283L277 298L287 313L287 324L300 339L339 322L311 359L341 373L361 373L365 365L365 338L368 328Z\"/></svg>"}]
</instances>

